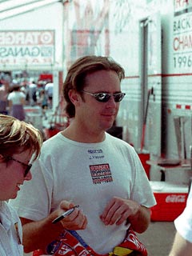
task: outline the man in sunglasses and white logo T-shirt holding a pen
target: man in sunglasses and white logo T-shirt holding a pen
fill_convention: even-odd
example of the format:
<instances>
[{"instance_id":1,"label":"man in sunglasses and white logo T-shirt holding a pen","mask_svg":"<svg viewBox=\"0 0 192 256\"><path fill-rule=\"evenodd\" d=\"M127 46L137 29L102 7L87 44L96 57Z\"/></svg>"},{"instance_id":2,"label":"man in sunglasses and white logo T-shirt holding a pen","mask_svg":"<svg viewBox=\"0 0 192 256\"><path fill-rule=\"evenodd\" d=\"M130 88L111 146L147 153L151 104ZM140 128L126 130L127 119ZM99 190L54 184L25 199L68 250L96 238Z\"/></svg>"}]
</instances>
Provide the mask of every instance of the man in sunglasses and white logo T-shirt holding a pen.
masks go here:
<instances>
[{"instance_id":1,"label":"man in sunglasses and white logo T-shirt holding a pen","mask_svg":"<svg viewBox=\"0 0 192 256\"><path fill-rule=\"evenodd\" d=\"M70 67L63 84L70 126L44 142L33 180L12 202L26 252L46 246L50 234L54 240L65 228L78 230L98 254L106 254L130 226L139 233L147 229L155 199L145 170L132 146L106 133L125 96L124 77L122 67L106 57L86 56ZM86 217L68 228L65 222L44 226L62 200L78 204Z\"/></svg>"}]
</instances>

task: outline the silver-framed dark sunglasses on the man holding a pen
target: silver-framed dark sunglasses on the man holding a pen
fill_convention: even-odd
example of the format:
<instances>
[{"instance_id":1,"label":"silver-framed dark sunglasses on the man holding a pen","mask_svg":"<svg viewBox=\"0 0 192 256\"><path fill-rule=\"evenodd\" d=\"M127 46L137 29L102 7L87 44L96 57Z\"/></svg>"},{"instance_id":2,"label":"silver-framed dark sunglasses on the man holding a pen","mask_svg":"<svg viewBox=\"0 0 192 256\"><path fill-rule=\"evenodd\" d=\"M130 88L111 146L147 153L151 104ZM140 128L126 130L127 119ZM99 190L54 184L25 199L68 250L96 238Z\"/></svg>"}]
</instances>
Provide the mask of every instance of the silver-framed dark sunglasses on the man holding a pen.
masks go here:
<instances>
[{"instance_id":1,"label":"silver-framed dark sunglasses on the man holding a pen","mask_svg":"<svg viewBox=\"0 0 192 256\"><path fill-rule=\"evenodd\" d=\"M108 93L96 93L96 94L91 94L88 91L82 90L83 93L89 94L93 96L98 102L108 102L110 100L110 97L114 97L114 102L121 102L124 96L126 95L125 93L117 93L117 94L108 94Z\"/></svg>"}]
</instances>

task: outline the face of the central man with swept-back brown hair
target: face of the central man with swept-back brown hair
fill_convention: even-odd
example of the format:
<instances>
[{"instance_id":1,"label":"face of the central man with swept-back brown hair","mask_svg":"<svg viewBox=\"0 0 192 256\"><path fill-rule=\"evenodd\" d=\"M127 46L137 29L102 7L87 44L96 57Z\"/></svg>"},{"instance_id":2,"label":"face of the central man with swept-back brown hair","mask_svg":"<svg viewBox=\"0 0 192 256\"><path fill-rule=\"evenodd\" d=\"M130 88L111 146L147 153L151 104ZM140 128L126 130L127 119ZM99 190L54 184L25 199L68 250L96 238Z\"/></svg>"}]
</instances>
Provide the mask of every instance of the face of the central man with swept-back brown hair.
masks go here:
<instances>
[{"instance_id":1,"label":"face of the central man with swept-back brown hair","mask_svg":"<svg viewBox=\"0 0 192 256\"><path fill-rule=\"evenodd\" d=\"M114 71L100 70L86 77L84 91L95 93L119 93L120 81ZM92 95L83 93L81 104L76 108L76 116L85 130L100 133L109 129L118 114L119 102L111 96L107 102L98 102Z\"/></svg>"}]
</instances>

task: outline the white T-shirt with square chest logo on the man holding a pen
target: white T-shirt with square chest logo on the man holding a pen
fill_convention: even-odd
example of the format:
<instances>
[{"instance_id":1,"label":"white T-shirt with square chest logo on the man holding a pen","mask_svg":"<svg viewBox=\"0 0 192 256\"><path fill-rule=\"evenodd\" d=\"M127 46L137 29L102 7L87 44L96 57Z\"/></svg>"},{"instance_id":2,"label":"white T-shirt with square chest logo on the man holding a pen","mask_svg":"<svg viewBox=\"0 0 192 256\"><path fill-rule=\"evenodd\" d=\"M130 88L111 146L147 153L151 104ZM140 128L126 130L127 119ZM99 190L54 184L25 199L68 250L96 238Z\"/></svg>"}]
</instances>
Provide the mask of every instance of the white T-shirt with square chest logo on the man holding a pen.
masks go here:
<instances>
[{"instance_id":1,"label":"white T-shirt with square chest logo on the man holding a pen","mask_svg":"<svg viewBox=\"0 0 192 256\"><path fill-rule=\"evenodd\" d=\"M78 230L78 234L100 254L122 242L127 230L125 223L105 226L100 220L111 198L130 198L146 207L155 204L138 154L110 134L100 143L74 142L60 133L55 135L44 142L32 175L11 202L18 215L38 221L62 200L74 202L88 218L86 230Z\"/></svg>"}]
</instances>

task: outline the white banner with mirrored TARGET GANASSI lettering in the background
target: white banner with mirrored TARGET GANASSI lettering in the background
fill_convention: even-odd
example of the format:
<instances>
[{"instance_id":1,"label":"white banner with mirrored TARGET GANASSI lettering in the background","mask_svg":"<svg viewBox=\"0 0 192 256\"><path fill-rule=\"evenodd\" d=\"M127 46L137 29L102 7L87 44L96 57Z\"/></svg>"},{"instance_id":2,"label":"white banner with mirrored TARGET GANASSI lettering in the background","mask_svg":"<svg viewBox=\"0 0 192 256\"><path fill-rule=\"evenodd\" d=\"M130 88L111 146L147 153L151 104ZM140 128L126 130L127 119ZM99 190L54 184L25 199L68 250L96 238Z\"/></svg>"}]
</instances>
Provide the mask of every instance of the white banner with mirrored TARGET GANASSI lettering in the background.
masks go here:
<instances>
[{"instance_id":1,"label":"white banner with mirrored TARGET GANASSI lettering in the background","mask_svg":"<svg viewBox=\"0 0 192 256\"><path fill-rule=\"evenodd\" d=\"M54 64L54 30L0 31L0 64Z\"/></svg>"}]
</instances>

